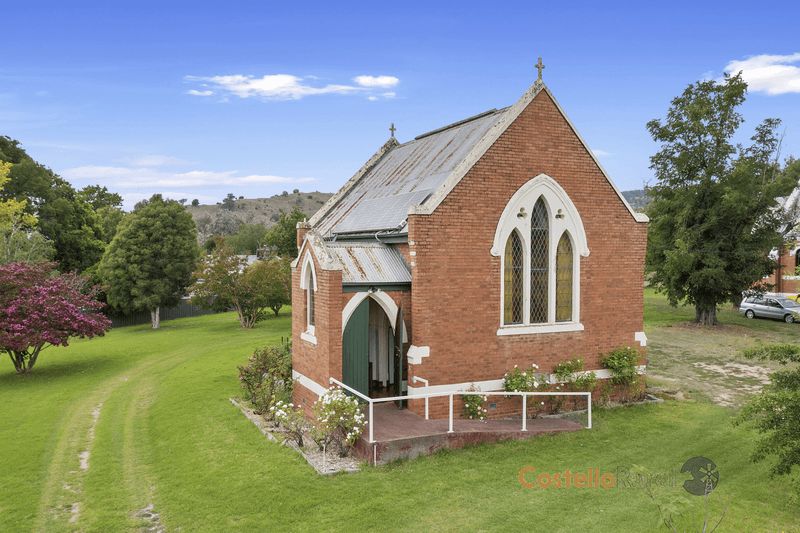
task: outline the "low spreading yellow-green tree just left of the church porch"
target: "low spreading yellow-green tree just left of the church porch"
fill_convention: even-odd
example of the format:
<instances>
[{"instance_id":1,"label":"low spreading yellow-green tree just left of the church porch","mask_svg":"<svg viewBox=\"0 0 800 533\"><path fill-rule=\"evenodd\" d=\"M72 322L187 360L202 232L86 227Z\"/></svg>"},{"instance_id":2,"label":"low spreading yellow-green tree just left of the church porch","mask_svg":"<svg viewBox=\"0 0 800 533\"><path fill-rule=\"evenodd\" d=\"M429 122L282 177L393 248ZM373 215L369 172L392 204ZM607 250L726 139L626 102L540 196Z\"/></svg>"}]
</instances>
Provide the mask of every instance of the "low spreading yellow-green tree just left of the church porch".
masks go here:
<instances>
[{"instance_id":1,"label":"low spreading yellow-green tree just left of the church porch","mask_svg":"<svg viewBox=\"0 0 800 533\"><path fill-rule=\"evenodd\" d=\"M215 239L216 249L192 274L190 303L201 309L236 309L239 323L251 329L272 309L277 315L291 301L291 265L286 258L256 261L237 256L225 241Z\"/></svg>"}]
</instances>

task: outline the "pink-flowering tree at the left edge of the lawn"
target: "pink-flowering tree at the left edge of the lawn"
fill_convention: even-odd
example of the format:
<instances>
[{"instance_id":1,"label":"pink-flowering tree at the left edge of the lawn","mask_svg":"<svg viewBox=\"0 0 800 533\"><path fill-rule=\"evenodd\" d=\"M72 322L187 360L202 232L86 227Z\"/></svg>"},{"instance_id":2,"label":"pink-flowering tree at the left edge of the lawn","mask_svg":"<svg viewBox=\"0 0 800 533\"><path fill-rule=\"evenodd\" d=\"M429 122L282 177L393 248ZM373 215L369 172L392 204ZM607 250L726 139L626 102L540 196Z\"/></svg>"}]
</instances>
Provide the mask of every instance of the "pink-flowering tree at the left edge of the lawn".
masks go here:
<instances>
[{"instance_id":1,"label":"pink-flowering tree at the left edge of the lawn","mask_svg":"<svg viewBox=\"0 0 800 533\"><path fill-rule=\"evenodd\" d=\"M0 265L0 350L27 374L47 346L67 346L70 337L105 335L111 322L96 311L99 285L88 276L57 275L55 263Z\"/></svg>"}]
</instances>

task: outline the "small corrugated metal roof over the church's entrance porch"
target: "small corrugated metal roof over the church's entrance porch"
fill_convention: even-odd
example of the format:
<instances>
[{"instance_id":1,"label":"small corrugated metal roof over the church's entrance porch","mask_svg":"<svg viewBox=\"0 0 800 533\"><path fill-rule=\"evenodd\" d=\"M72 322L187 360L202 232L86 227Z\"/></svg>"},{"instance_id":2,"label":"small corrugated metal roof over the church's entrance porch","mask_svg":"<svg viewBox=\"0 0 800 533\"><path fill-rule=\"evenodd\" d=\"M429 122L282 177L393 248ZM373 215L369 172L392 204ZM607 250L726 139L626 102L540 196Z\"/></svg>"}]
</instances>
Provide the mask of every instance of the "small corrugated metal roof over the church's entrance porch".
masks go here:
<instances>
[{"instance_id":1,"label":"small corrugated metal roof over the church's entrance porch","mask_svg":"<svg viewBox=\"0 0 800 533\"><path fill-rule=\"evenodd\" d=\"M411 283L403 256L380 242L327 242L342 265L342 283Z\"/></svg>"}]
</instances>

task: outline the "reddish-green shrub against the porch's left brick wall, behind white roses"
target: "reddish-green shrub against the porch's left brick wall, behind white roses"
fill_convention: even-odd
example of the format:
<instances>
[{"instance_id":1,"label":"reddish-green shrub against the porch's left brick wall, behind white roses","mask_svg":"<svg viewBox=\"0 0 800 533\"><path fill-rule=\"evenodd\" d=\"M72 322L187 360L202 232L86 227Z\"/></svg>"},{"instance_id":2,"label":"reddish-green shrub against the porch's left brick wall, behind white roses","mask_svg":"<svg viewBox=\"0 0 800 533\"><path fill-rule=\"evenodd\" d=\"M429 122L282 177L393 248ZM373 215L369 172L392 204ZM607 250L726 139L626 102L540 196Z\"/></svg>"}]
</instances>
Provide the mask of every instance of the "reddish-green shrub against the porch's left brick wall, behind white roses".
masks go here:
<instances>
[{"instance_id":1,"label":"reddish-green shrub against the porch's left brick wall, behind white roses","mask_svg":"<svg viewBox=\"0 0 800 533\"><path fill-rule=\"evenodd\" d=\"M246 365L239 365L245 398L258 414L271 416L270 406L292 394L292 341L256 350Z\"/></svg>"}]
</instances>

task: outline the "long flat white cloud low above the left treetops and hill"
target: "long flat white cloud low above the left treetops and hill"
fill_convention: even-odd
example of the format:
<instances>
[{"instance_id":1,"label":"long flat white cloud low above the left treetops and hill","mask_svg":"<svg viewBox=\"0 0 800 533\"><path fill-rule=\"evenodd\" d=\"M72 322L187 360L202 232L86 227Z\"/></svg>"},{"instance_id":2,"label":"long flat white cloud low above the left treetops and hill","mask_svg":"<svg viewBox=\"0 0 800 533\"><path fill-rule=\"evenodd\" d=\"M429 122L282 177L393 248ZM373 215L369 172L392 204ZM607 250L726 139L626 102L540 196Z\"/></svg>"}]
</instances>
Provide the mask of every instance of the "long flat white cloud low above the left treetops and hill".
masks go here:
<instances>
[{"instance_id":1,"label":"long flat white cloud low above the left treetops and hill","mask_svg":"<svg viewBox=\"0 0 800 533\"><path fill-rule=\"evenodd\" d=\"M282 176L251 174L237 176L236 170L213 172L193 170L191 172L159 172L152 168L125 168L85 166L70 168L60 173L68 181L100 183L114 189L158 189L180 187L204 187L212 185L306 183L313 178L286 178Z\"/></svg>"}]
</instances>

